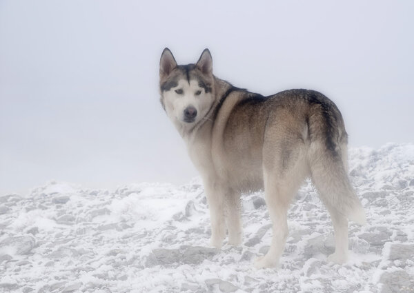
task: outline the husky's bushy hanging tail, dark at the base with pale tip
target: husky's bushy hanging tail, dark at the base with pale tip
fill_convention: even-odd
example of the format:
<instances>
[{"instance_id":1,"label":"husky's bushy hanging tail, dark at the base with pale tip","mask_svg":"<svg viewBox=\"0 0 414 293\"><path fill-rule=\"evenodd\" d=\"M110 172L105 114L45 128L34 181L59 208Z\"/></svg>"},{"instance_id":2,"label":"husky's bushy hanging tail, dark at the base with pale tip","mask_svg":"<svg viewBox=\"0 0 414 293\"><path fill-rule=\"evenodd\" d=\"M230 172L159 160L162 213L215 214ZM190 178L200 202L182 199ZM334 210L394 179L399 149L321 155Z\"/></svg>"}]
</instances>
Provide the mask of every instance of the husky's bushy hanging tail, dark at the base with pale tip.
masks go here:
<instances>
[{"instance_id":1,"label":"husky's bushy hanging tail, dark at the base with pale tip","mask_svg":"<svg viewBox=\"0 0 414 293\"><path fill-rule=\"evenodd\" d=\"M336 105L317 92L308 92L308 164L315 187L328 210L364 225L366 216L348 178L348 134Z\"/></svg>"}]
</instances>

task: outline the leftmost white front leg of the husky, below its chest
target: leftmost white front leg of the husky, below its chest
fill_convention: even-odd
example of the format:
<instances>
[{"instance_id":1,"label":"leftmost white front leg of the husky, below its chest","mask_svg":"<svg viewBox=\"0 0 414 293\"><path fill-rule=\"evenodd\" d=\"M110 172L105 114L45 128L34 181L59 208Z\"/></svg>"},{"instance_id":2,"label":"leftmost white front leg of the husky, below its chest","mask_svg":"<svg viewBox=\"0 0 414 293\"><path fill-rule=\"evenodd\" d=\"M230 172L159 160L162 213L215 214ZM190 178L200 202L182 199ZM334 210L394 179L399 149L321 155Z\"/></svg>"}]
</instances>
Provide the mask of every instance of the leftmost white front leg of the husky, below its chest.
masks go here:
<instances>
[{"instance_id":1,"label":"leftmost white front leg of the husky, below its chest","mask_svg":"<svg viewBox=\"0 0 414 293\"><path fill-rule=\"evenodd\" d=\"M221 248L226 237L226 223L224 221L224 193L217 183L204 181L208 209L210 210L211 238L210 245Z\"/></svg>"}]
</instances>

